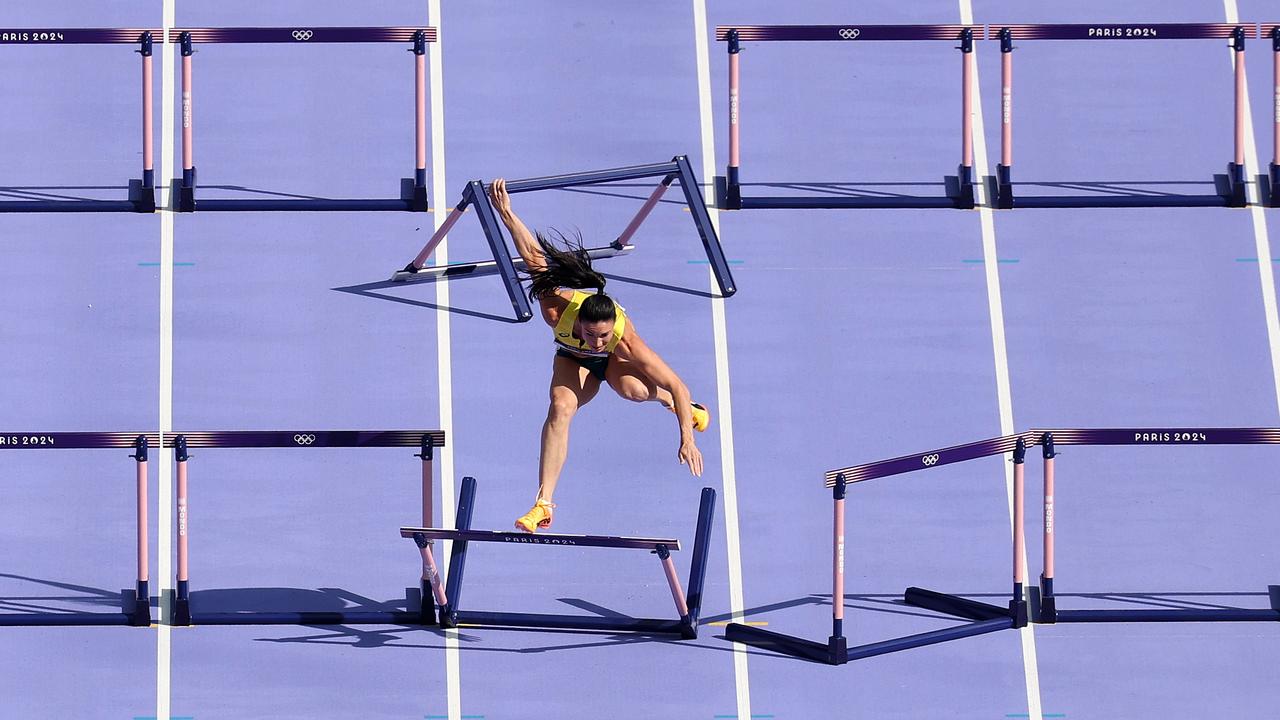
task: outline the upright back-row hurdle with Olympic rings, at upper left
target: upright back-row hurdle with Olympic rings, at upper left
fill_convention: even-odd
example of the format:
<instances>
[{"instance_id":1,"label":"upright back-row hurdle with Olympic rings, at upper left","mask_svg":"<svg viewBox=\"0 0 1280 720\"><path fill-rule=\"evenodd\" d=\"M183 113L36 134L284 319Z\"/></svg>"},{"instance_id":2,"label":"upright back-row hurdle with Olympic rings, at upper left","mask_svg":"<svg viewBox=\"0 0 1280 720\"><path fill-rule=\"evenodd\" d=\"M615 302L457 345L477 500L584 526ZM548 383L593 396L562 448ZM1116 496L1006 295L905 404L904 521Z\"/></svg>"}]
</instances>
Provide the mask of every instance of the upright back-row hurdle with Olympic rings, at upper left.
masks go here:
<instances>
[{"instance_id":1,"label":"upright back-row hurdle with Olympic rings, at upper left","mask_svg":"<svg viewBox=\"0 0 1280 720\"><path fill-rule=\"evenodd\" d=\"M174 28L169 41L182 49L182 179L178 186L178 209L196 210L426 210L426 44L435 42L434 27L216 27ZM415 87L415 170L412 178L401 179L398 199L232 199L197 200L192 100L191 56L197 42L274 42L315 45L325 42L411 42Z\"/></svg>"}]
</instances>

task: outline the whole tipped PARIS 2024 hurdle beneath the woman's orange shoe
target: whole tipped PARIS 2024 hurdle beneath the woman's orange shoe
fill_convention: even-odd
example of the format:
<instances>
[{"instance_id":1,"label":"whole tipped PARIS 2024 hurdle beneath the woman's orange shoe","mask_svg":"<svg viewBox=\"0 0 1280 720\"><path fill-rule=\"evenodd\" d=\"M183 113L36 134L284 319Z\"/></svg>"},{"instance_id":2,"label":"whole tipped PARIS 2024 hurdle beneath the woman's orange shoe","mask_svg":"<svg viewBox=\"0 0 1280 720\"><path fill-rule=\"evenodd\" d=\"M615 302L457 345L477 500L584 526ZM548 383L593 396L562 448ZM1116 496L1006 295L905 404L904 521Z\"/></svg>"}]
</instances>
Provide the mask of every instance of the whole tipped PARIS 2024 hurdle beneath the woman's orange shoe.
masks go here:
<instances>
[{"instance_id":1,"label":"whole tipped PARIS 2024 hurdle beneath the woman's orange shoe","mask_svg":"<svg viewBox=\"0 0 1280 720\"><path fill-rule=\"evenodd\" d=\"M554 533L521 533L471 529L471 514L475 509L476 479L462 479L462 493L458 496L457 529L439 528L401 528L401 537L412 538L422 556L424 615L428 612L429 597L439 606L439 624L444 628L460 625L494 625L509 628L547 628L596 632L628 632L677 634L691 639L698 637L698 618L703 605L703 580L707 575L707 550L712 534L712 519L716 512L716 491L703 488L698 506L698 525L694 532L694 555L689 566L687 594L680 587L680 578L671 552L680 550L678 539L627 538L608 536L568 536ZM449 552L448 579L442 585L431 546L436 539L453 541ZM655 618L600 618L589 615L550 615L535 612L489 612L463 610L461 607L462 573L466 568L467 543L500 542L516 544L540 544L559 547L612 547L648 550L662 562L671 596L676 602L675 620ZM428 591L429 588L429 591Z\"/></svg>"}]
</instances>

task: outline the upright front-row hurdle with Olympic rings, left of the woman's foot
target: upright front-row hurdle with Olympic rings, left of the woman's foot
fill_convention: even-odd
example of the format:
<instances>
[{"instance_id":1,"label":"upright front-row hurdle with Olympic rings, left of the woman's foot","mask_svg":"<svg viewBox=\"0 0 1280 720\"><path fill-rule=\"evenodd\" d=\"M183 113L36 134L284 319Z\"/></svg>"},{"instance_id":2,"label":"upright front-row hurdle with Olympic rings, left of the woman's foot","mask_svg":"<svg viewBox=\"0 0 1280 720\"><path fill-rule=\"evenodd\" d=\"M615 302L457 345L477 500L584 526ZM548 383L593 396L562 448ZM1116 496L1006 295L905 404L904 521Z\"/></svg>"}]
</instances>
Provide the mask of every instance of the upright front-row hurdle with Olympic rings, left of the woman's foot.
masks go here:
<instances>
[{"instance_id":1,"label":"upright front-row hurdle with Olympic rings, left of the woman's foot","mask_svg":"<svg viewBox=\"0 0 1280 720\"><path fill-rule=\"evenodd\" d=\"M191 511L188 506L188 465L191 448L214 447L417 447L416 457L422 461L422 519L431 520L431 461L435 447L444 446L442 430L228 430L188 432L166 434L164 446L174 450L177 464L178 507L178 589L173 605L174 625L357 625L397 624L419 625L433 623L431 605L424 602L421 584L408 593L408 607L403 611L230 611L202 612L192 607L188 539L191 537ZM415 593L417 593L415 596ZM413 607L413 603L419 607Z\"/></svg>"}]
</instances>

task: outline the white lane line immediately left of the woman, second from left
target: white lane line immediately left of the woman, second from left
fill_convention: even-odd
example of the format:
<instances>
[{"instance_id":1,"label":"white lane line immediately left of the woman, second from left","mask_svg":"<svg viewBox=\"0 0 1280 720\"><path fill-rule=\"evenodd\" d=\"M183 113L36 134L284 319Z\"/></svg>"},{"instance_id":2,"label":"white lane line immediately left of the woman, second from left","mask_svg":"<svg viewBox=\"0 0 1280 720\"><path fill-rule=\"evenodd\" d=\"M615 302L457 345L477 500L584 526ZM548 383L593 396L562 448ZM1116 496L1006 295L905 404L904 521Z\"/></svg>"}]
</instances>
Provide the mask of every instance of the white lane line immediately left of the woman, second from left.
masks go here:
<instances>
[{"instance_id":1,"label":"white lane line immediately left of the woman, second from left","mask_svg":"<svg viewBox=\"0 0 1280 720\"><path fill-rule=\"evenodd\" d=\"M431 217L434 228L439 229L444 224L444 218L449 213L448 195L444 182L444 27L440 17L440 0L428 0L428 24L434 22L436 28L435 42L429 42L428 60L431 65ZM433 231L434 232L434 231ZM449 240L445 237L435 249L431 261L444 265L449 261ZM440 278L435 283L435 304L439 307L449 306L449 279ZM452 346L449 345L449 313L442 310L435 314L435 366L436 387L440 398L440 429L444 430L444 447L439 448L440 466L440 515L443 527L454 525L454 488L453 488L453 365ZM444 577L449 574L449 544L443 543ZM424 594L422 602L431 602L430 596ZM444 682L445 700L448 703L449 720L462 719L462 670L458 656L458 630L444 632Z\"/></svg>"}]
</instances>

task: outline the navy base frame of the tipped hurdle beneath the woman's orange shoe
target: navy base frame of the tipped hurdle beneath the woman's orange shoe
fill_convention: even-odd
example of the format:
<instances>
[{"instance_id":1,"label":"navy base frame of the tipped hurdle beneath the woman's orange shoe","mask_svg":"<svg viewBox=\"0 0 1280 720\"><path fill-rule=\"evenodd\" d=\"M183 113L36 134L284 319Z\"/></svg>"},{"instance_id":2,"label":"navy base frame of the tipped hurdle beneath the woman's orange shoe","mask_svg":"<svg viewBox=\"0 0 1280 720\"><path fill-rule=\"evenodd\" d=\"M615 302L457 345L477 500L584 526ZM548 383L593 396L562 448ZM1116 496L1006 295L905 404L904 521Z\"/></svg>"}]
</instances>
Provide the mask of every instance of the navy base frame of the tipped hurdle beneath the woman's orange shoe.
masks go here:
<instances>
[{"instance_id":1,"label":"navy base frame of the tipped hurdle beneath the woman's orange shoe","mask_svg":"<svg viewBox=\"0 0 1280 720\"><path fill-rule=\"evenodd\" d=\"M458 496L457 529L471 529L471 515L475 509L476 480L475 478L462 479L462 492ZM685 601L689 606L689 615L676 619L655 618L593 618L585 615L552 615L534 612L489 612L483 610L462 610L460 598L462 596L462 574L466 570L467 543L474 541L456 539L449 553L449 573L444 585L448 605L439 609L439 623L444 628L458 625L497 625L515 628L556 628L575 630L598 632L628 632L628 633L654 633L676 634L685 639L698 637L698 618L703 605L703 584L707 577L707 551L710 543L712 520L716 512L716 491L703 488L701 500L698 506L698 525L694 533L694 553L689 568L689 584L685 588ZM607 538L596 536L596 539L622 541L625 538ZM613 544L612 547L625 547ZM660 552L662 546L652 552ZM433 597L424 591L424 606L428 598Z\"/></svg>"}]
</instances>

